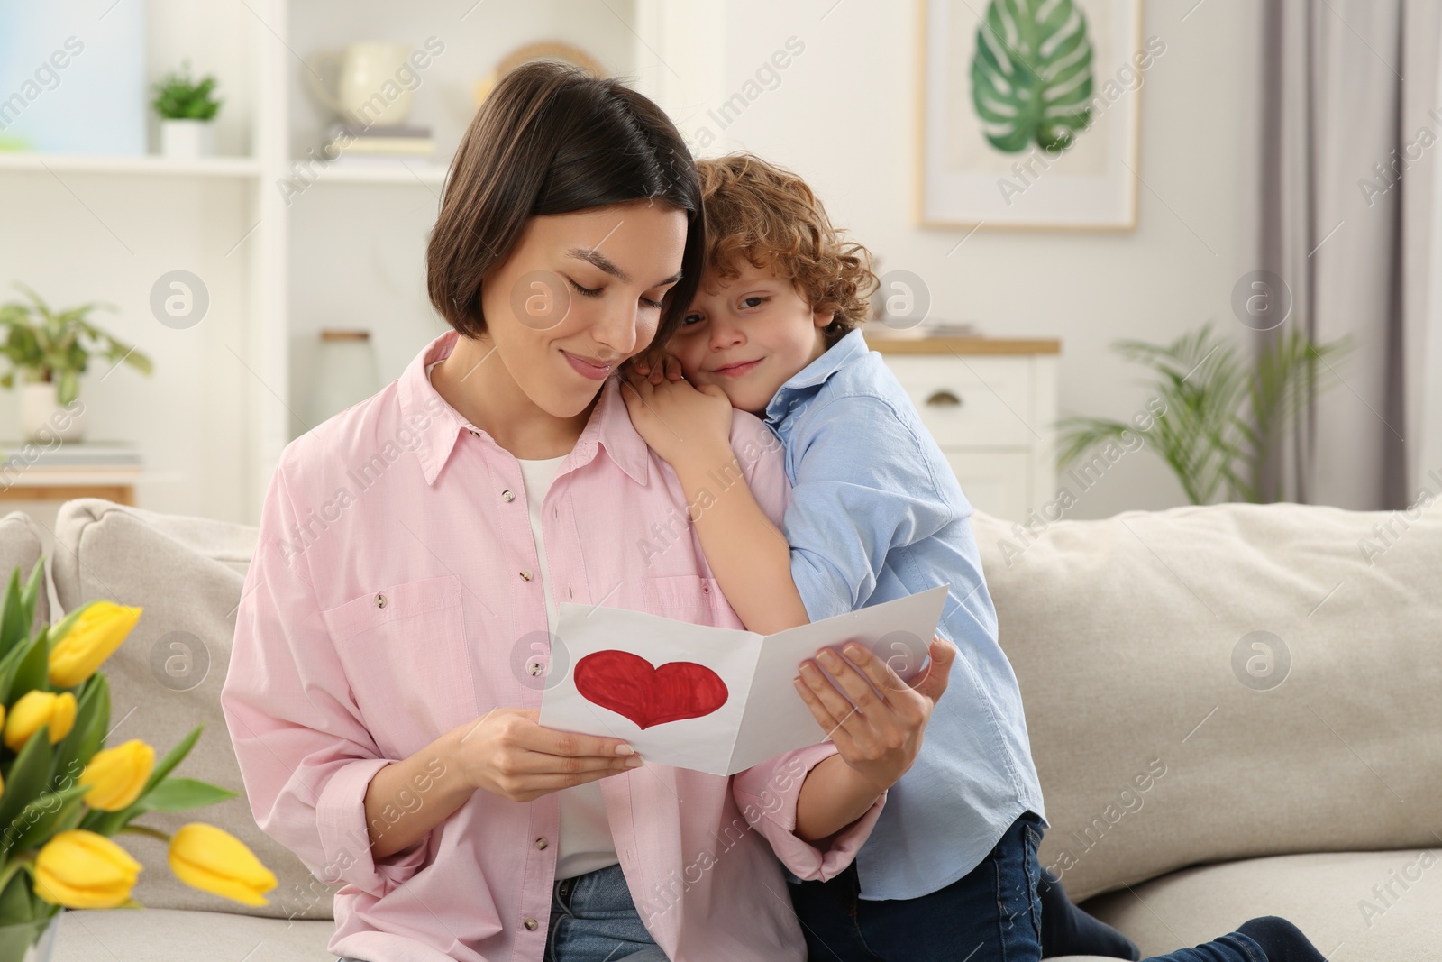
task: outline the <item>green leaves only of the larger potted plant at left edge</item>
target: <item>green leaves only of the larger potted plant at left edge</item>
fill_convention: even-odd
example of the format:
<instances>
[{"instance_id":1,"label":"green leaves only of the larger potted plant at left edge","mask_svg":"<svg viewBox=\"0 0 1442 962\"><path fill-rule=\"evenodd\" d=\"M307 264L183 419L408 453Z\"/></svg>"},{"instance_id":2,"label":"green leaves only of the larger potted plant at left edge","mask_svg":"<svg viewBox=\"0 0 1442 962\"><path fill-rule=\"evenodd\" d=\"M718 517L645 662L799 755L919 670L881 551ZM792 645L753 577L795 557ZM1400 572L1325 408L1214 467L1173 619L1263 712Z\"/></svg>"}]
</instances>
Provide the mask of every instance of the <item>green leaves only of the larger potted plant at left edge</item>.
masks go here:
<instances>
[{"instance_id":1,"label":"green leaves only of the larger potted plant at left edge","mask_svg":"<svg viewBox=\"0 0 1442 962\"><path fill-rule=\"evenodd\" d=\"M79 394L79 376L94 355L124 361L150 374L150 358L89 323L92 310L114 307L91 303L58 312L29 287L16 287L30 303L0 304L0 355L10 361L10 371L0 375L0 387L13 388L16 372L29 382L53 381L56 401L68 405Z\"/></svg>"}]
</instances>

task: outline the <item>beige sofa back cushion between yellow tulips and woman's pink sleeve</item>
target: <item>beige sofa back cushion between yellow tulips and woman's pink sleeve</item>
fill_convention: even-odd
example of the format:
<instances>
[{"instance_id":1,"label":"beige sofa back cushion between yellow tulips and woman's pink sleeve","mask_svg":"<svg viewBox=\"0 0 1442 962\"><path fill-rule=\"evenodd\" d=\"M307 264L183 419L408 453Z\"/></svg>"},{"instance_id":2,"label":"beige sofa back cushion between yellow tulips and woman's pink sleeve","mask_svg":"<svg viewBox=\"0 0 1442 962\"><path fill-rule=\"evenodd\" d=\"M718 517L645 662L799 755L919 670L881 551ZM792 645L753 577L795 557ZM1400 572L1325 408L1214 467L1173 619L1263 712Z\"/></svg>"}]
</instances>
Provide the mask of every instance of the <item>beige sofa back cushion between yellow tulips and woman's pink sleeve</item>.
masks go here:
<instances>
[{"instance_id":1,"label":"beige sofa back cushion between yellow tulips and woman's pink sleeve","mask_svg":"<svg viewBox=\"0 0 1442 962\"><path fill-rule=\"evenodd\" d=\"M221 714L221 684L257 529L84 498L61 506L55 537L52 568L62 609L95 599L144 609L105 663L114 725L108 743L143 738L163 753L203 724L205 733L176 773L242 792ZM190 812L153 812L141 824L173 832L193 821L231 832L275 873L280 886L270 893L270 904L252 909L196 891L170 873L162 842L127 837L125 847L147 865L136 888L141 904L332 917L335 887L320 884L296 855L257 828L244 795Z\"/></svg>"}]
</instances>

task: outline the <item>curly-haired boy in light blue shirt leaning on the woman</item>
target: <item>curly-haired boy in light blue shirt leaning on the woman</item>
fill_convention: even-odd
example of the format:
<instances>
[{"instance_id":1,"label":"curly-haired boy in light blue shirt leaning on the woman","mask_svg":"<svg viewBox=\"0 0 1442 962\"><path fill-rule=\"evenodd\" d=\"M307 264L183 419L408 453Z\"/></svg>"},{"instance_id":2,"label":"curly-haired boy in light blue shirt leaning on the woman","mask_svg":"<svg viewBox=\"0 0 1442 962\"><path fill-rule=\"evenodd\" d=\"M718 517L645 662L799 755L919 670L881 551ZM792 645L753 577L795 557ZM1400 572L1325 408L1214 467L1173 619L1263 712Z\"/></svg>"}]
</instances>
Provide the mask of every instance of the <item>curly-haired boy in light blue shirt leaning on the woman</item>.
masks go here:
<instances>
[{"instance_id":1,"label":"curly-haired boy in light blue shirt leaning on the woman","mask_svg":"<svg viewBox=\"0 0 1442 962\"><path fill-rule=\"evenodd\" d=\"M694 513L727 600L747 629L771 633L950 584L937 633L959 653L916 763L846 873L792 886L812 958L1139 958L1037 862L1041 787L970 505L861 336L871 255L838 235L800 177L747 154L698 167L702 290L623 394L688 503L714 496ZM714 490L733 463L733 407L786 446L784 535L744 483ZM815 704L828 682L810 663L800 674Z\"/></svg>"}]
</instances>

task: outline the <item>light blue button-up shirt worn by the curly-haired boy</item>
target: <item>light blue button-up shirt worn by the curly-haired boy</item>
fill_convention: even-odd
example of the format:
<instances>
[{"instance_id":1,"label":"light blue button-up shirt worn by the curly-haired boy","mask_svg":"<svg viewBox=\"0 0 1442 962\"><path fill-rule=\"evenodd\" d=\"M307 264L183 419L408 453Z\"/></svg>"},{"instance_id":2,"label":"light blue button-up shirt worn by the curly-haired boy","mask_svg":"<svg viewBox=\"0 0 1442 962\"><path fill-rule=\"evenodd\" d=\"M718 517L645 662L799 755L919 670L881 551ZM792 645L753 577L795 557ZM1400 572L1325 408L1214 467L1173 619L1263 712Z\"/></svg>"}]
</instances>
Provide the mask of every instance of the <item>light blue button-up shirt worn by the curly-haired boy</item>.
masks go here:
<instances>
[{"instance_id":1,"label":"light blue button-up shirt worn by the curly-haired boy","mask_svg":"<svg viewBox=\"0 0 1442 962\"><path fill-rule=\"evenodd\" d=\"M783 384L766 424L786 446L792 577L813 622L950 584L949 687L857 855L862 899L916 899L976 868L1024 811L1045 818L972 506L859 330Z\"/></svg>"}]
</instances>

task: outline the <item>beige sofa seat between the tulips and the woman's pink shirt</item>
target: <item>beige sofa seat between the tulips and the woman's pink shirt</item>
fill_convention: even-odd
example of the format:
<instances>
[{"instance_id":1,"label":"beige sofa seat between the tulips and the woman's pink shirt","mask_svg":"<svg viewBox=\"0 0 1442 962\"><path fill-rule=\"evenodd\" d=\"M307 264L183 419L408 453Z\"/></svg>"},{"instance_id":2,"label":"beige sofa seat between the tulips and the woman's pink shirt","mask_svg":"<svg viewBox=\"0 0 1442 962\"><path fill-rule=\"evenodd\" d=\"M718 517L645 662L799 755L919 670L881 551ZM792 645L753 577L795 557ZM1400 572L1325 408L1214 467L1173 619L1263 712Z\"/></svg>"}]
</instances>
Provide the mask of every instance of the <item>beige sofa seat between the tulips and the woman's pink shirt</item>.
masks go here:
<instances>
[{"instance_id":1,"label":"beige sofa seat between the tulips and the woman's pink shirt","mask_svg":"<svg viewBox=\"0 0 1442 962\"><path fill-rule=\"evenodd\" d=\"M333 922L255 919L225 912L66 912L55 962L335 962Z\"/></svg>"}]
</instances>

